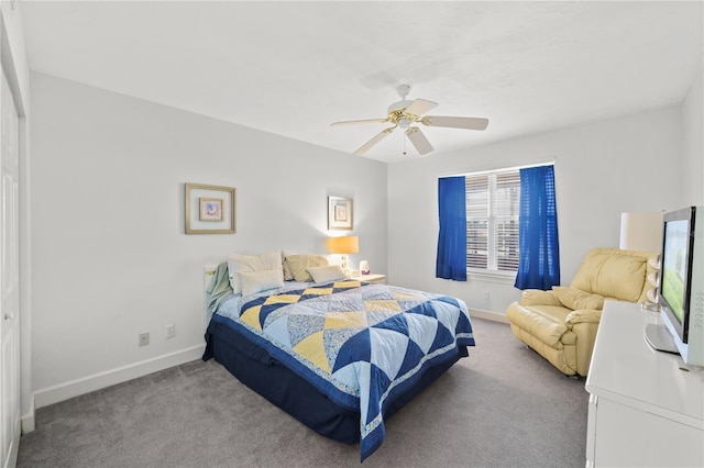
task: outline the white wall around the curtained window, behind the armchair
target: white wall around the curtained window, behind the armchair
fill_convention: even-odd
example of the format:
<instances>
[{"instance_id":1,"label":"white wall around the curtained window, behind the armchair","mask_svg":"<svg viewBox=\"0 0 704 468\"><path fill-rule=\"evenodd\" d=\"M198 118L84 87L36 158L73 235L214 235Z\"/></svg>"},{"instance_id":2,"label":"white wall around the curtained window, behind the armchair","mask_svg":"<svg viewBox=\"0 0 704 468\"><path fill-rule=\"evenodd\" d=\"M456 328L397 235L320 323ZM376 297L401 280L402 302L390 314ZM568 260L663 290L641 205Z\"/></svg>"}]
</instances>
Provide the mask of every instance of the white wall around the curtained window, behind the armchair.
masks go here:
<instances>
[{"instance_id":1,"label":"white wall around the curtained window, behind the armchair","mask_svg":"<svg viewBox=\"0 0 704 468\"><path fill-rule=\"evenodd\" d=\"M569 283L590 248L618 246L623 211L671 210L689 203L681 188L686 174L681 127L678 105L389 165L392 282L453 294L470 309L503 315L520 296L513 282L435 278L437 179L554 160L561 279Z\"/></svg>"}]
</instances>

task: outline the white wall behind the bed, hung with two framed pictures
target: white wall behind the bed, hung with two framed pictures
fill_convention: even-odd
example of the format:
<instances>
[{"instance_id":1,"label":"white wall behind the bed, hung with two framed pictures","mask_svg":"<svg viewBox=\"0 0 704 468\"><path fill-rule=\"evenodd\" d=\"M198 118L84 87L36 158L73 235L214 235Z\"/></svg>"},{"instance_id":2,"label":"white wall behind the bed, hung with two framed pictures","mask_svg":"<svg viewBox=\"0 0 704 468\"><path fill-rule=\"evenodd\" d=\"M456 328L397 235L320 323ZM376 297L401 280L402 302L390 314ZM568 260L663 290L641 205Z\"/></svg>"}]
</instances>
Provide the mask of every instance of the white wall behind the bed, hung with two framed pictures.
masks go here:
<instances>
[{"instance_id":1,"label":"white wall behind the bed, hung with two framed pictures","mask_svg":"<svg viewBox=\"0 0 704 468\"><path fill-rule=\"evenodd\" d=\"M324 254L328 194L354 199L352 265L386 270L386 165L46 75L31 89L37 406L200 357L202 267ZM235 187L237 234L184 234L185 182Z\"/></svg>"}]
</instances>

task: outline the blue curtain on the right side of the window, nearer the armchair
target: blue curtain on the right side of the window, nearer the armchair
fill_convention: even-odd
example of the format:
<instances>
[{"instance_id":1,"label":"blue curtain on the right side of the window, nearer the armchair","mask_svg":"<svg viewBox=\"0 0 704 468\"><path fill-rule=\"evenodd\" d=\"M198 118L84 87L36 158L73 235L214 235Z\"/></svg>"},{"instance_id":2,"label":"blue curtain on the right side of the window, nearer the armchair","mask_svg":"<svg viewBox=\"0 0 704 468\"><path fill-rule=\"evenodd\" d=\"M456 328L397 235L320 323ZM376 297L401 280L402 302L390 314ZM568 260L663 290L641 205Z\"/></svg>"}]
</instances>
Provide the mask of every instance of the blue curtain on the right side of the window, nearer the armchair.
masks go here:
<instances>
[{"instance_id":1,"label":"blue curtain on the right side of the window, nearer the armchair","mask_svg":"<svg viewBox=\"0 0 704 468\"><path fill-rule=\"evenodd\" d=\"M516 288L548 290L560 285L558 210L552 166L520 169Z\"/></svg>"}]
</instances>

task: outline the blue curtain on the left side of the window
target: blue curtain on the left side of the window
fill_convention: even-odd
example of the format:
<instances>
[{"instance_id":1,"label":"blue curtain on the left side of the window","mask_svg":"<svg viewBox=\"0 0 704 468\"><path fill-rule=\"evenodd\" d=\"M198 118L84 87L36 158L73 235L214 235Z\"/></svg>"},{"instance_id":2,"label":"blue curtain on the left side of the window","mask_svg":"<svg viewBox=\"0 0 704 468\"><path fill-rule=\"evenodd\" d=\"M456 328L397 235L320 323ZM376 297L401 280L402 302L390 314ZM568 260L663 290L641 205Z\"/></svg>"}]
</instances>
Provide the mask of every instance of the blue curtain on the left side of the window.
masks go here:
<instances>
[{"instance_id":1,"label":"blue curtain on the left side of the window","mask_svg":"<svg viewBox=\"0 0 704 468\"><path fill-rule=\"evenodd\" d=\"M436 277L466 281L466 197L464 177L438 180L438 257Z\"/></svg>"}]
</instances>

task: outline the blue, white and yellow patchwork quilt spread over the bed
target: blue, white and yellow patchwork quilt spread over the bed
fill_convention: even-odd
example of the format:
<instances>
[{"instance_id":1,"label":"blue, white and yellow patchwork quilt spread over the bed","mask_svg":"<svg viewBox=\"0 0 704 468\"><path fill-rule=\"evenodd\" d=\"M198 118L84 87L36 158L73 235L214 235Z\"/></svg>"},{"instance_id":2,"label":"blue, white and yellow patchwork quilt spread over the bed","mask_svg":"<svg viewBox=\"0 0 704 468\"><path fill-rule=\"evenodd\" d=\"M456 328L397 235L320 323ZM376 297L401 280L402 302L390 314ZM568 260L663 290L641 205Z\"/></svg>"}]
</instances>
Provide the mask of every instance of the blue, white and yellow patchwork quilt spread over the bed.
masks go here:
<instances>
[{"instance_id":1,"label":"blue, white and yellow patchwork quilt spread over the bed","mask_svg":"<svg viewBox=\"0 0 704 468\"><path fill-rule=\"evenodd\" d=\"M227 320L227 319L220 319ZM245 297L231 326L337 403L359 411L361 457L382 444L389 397L474 346L455 298L345 280Z\"/></svg>"}]
</instances>

